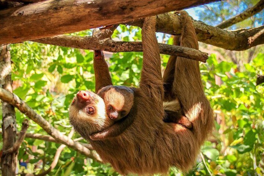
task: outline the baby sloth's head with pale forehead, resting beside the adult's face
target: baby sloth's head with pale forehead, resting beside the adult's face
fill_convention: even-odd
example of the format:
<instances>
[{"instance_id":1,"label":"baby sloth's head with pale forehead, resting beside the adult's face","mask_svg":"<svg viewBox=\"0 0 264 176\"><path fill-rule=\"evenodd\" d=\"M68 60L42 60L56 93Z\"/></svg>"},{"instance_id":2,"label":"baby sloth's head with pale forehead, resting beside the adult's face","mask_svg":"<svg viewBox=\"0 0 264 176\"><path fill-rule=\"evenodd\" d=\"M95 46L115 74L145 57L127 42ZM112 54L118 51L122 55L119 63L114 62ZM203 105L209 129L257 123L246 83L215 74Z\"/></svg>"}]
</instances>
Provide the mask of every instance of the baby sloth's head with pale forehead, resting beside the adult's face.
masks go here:
<instances>
[{"instance_id":1,"label":"baby sloth's head with pale forehead, resting beside the adult's face","mask_svg":"<svg viewBox=\"0 0 264 176\"><path fill-rule=\"evenodd\" d=\"M98 95L103 98L106 113L113 121L127 116L134 103L133 91L125 86L107 86Z\"/></svg>"}]
</instances>

